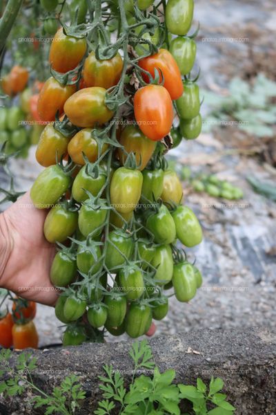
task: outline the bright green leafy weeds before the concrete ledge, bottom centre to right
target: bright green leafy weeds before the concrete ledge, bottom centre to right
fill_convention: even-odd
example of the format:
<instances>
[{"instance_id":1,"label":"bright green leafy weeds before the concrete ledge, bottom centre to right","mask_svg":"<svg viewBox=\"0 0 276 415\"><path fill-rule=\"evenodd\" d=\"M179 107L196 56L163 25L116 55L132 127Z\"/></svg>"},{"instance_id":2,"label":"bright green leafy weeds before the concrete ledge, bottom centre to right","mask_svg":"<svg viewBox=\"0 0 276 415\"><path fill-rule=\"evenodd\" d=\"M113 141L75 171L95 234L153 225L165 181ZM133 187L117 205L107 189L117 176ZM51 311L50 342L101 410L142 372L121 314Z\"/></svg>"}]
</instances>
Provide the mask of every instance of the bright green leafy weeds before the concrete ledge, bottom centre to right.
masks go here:
<instances>
[{"instance_id":1,"label":"bright green leafy weeds before the concrete ledge, bottom centre to right","mask_svg":"<svg viewBox=\"0 0 276 415\"><path fill-rule=\"evenodd\" d=\"M160 373L153 362L151 349L146 341L135 342L130 350L134 362L132 382L129 390L124 387L124 378L114 371L112 365L103 367L106 376L99 376L103 400L99 402L96 415L112 414L113 409L121 415L180 415L179 403L182 399L193 404L196 415L231 415L235 407L226 401L226 395L219 391L224 387L220 378L210 380L209 388L201 379L197 379L197 387L175 385L173 369ZM135 378L138 369L154 368L153 377L141 374ZM209 390L207 390L209 389ZM209 406L215 408L208 409ZM186 413L188 415L188 413Z\"/></svg>"}]
</instances>

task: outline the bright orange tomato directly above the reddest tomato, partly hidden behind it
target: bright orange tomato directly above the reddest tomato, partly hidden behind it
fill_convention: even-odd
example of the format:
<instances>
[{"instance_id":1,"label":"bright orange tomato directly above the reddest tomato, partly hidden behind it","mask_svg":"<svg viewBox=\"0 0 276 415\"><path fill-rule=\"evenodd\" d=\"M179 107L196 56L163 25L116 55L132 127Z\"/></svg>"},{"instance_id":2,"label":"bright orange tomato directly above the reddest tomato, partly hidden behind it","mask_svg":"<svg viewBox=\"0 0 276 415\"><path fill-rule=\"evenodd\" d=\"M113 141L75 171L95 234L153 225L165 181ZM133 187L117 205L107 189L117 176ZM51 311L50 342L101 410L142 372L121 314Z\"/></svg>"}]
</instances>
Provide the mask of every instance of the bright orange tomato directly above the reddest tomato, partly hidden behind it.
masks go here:
<instances>
[{"instance_id":1,"label":"bright orange tomato directly above the reddest tomato, partly hidden behind it","mask_svg":"<svg viewBox=\"0 0 276 415\"><path fill-rule=\"evenodd\" d=\"M159 72L160 83L162 75L164 77L164 87L170 94L172 100L177 100L181 97L184 88L181 80L181 73L177 62L172 54L166 49L159 49L155 55L144 57L139 60L139 66L148 71L152 77L155 77L155 71ZM150 82L146 73L141 73L145 82Z\"/></svg>"}]
</instances>

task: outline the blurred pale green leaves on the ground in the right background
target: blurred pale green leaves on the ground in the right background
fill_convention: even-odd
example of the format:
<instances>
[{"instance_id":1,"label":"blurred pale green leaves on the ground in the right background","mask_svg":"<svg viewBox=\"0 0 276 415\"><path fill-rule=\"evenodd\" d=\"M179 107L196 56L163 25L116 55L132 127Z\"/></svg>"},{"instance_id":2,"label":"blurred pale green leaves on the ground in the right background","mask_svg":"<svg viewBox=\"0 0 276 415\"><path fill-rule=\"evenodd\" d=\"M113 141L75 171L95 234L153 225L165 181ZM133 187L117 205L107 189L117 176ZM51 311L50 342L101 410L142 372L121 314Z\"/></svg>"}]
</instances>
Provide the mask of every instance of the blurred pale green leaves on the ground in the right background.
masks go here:
<instances>
[{"instance_id":1,"label":"blurred pale green leaves on the ground in the right background","mask_svg":"<svg viewBox=\"0 0 276 415\"><path fill-rule=\"evenodd\" d=\"M204 91L204 102L211 110L204 120L203 131L235 122L239 129L257 137L273 136L276 105L271 98L276 96L276 82L259 74L251 87L248 82L235 77L230 82L229 94L221 96Z\"/></svg>"}]
</instances>

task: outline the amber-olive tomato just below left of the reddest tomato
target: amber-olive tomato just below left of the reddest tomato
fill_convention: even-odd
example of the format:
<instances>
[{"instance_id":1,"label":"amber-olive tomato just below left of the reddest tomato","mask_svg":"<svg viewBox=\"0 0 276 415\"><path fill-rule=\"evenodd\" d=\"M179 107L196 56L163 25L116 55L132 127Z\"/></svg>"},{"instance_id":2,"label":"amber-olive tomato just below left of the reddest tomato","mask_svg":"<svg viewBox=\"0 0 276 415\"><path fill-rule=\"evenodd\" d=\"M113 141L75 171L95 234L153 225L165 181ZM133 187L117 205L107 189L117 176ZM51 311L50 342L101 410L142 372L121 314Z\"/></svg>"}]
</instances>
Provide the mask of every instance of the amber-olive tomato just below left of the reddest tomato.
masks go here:
<instances>
[{"instance_id":1,"label":"amber-olive tomato just below left of the reddest tomato","mask_svg":"<svg viewBox=\"0 0 276 415\"><path fill-rule=\"evenodd\" d=\"M153 151L155 151L156 142L149 140L137 125L128 125L121 133L119 142L124 149L118 149L118 156L121 165L124 165L127 154L134 153L137 163L137 169L144 170Z\"/></svg>"}]
</instances>

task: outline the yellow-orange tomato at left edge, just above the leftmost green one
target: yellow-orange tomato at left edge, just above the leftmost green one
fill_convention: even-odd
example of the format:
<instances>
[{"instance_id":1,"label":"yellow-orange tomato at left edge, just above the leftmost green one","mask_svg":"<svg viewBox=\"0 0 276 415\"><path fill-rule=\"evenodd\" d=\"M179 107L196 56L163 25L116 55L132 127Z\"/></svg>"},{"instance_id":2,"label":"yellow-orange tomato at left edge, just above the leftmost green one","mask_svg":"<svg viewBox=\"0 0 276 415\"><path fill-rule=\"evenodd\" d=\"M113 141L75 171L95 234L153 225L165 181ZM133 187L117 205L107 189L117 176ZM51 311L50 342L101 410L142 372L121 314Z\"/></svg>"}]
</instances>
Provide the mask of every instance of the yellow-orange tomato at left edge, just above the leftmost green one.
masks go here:
<instances>
[{"instance_id":1,"label":"yellow-orange tomato at left edge, just above the leftmost green one","mask_svg":"<svg viewBox=\"0 0 276 415\"><path fill-rule=\"evenodd\" d=\"M61 157L67 154L67 146L70 138L63 136L52 124L43 129L37 145L35 156L43 167L55 165Z\"/></svg>"}]
</instances>

